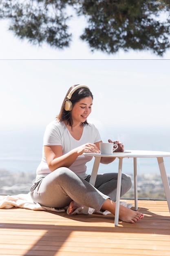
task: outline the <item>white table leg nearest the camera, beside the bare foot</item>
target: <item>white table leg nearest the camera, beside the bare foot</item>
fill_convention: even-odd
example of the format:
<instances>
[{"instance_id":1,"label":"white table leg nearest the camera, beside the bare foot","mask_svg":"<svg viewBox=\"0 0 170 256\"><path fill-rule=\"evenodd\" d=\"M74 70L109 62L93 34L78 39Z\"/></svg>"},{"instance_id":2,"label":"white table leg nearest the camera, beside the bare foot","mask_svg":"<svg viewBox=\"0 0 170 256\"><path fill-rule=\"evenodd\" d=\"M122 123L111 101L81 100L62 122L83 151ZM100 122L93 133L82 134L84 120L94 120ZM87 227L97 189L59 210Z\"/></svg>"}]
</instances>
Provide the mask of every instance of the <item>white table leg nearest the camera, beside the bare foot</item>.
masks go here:
<instances>
[{"instance_id":1,"label":"white table leg nearest the camera, beside the bare foot","mask_svg":"<svg viewBox=\"0 0 170 256\"><path fill-rule=\"evenodd\" d=\"M119 170L118 170L118 177L117 177L117 193L116 193L116 209L115 209L115 227L118 226L118 222L119 222L122 160L123 160L122 157L119 158Z\"/></svg>"}]
</instances>

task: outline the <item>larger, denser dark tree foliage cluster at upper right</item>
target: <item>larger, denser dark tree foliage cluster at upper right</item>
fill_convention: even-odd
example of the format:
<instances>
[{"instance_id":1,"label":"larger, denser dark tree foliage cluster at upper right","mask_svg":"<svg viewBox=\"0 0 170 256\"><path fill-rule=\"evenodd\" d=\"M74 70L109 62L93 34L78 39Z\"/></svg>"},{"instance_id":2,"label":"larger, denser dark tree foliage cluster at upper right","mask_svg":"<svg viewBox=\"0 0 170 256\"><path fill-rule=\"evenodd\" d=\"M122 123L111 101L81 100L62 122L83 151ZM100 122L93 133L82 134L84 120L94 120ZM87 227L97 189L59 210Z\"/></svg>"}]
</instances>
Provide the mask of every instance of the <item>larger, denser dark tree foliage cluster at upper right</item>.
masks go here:
<instances>
[{"instance_id":1,"label":"larger, denser dark tree foliage cluster at upper right","mask_svg":"<svg viewBox=\"0 0 170 256\"><path fill-rule=\"evenodd\" d=\"M88 17L88 27L81 38L88 41L92 50L108 54L122 48L163 55L170 47L170 19L166 22L158 19L161 11L169 12L169 5L163 2L166 4L166 1L85 0L79 14Z\"/></svg>"}]
</instances>

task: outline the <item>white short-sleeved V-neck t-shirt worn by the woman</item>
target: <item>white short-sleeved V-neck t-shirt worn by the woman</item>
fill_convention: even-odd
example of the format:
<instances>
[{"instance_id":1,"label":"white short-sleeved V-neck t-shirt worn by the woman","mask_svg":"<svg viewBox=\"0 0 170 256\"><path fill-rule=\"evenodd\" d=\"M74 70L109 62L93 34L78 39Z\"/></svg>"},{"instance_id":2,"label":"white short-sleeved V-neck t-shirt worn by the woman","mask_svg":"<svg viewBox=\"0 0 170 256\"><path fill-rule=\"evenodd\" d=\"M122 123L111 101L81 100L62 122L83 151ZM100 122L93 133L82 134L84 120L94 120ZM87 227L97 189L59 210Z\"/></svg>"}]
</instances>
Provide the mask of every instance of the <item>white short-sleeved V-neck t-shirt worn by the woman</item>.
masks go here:
<instances>
[{"instance_id":1,"label":"white short-sleeved V-neck t-shirt worn by the woman","mask_svg":"<svg viewBox=\"0 0 170 256\"><path fill-rule=\"evenodd\" d=\"M64 122L52 121L45 130L43 146L61 145L63 154L68 153L73 148L77 148L86 143L95 143L101 141L99 131L96 126L88 121L88 125L83 127L82 137L79 140L74 139L68 131ZM86 178L86 162L92 159L91 156L79 155L75 162L69 167L71 171ZM44 147L42 150L42 161L37 168L37 178L41 175L51 173L46 162Z\"/></svg>"}]
</instances>

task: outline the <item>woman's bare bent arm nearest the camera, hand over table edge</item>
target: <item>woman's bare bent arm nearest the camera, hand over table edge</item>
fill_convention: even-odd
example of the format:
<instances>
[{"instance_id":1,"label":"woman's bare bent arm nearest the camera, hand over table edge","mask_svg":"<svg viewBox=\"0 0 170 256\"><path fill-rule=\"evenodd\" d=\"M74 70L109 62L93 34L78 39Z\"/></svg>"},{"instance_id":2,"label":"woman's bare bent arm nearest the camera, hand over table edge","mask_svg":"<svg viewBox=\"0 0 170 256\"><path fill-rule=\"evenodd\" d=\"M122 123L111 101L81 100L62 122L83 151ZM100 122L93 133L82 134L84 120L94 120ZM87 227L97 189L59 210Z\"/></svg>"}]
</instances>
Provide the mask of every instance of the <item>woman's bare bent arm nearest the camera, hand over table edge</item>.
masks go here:
<instances>
[{"instance_id":1,"label":"woman's bare bent arm nearest the camera, hand over table edge","mask_svg":"<svg viewBox=\"0 0 170 256\"><path fill-rule=\"evenodd\" d=\"M46 157L46 162L51 171L56 170L60 167L69 168L73 162L75 162L76 158L82 153L99 153L100 150L97 148L95 144L86 143L82 146L72 149L68 153L63 155L62 146L44 146L44 153Z\"/></svg>"}]
</instances>

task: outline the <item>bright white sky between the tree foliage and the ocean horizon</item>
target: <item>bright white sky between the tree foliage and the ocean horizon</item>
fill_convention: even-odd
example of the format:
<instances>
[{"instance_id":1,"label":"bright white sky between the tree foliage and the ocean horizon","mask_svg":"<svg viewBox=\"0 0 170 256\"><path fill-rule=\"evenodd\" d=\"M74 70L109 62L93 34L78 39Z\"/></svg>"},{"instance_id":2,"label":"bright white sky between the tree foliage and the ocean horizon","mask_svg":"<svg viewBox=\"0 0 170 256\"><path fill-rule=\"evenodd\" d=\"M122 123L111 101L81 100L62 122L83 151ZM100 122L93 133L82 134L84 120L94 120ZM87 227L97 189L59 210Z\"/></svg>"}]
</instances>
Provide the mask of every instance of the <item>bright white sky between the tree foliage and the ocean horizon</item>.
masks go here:
<instances>
[{"instance_id":1,"label":"bright white sky between the tree foliage and the ocean horizon","mask_svg":"<svg viewBox=\"0 0 170 256\"><path fill-rule=\"evenodd\" d=\"M163 58L134 51L92 54L74 22L71 47L61 51L22 41L0 21L0 130L44 128L74 84L91 89L89 119L99 128L170 126L170 51Z\"/></svg>"}]
</instances>

